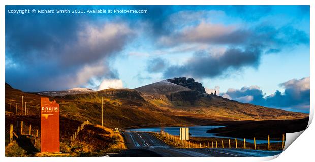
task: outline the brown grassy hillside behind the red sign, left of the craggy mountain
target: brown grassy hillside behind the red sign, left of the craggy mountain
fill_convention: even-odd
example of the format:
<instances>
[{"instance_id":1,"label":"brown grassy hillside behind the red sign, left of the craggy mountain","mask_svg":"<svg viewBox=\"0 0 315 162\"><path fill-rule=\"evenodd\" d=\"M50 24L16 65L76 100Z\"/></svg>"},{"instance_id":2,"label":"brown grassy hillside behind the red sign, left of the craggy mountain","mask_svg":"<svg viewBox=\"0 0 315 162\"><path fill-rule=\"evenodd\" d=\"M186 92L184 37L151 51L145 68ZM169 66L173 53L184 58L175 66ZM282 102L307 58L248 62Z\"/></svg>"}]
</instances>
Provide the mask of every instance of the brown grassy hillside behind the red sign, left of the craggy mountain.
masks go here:
<instances>
[{"instance_id":1,"label":"brown grassy hillside behind the red sign, left of the craggy mountain","mask_svg":"<svg viewBox=\"0 0 315 162\"><path fill-rule=\"evenodd\" d=\"M21 97L27 102L28 115L40 115L40 98L47 97L39 94L25 93L6 84L6 114L21 112ZM95 124L101 123L101 97L103 97L104 125L113 127L145 127L145 126L172 126L207 124L208 121L198 118L175 116L169 111L144 100L136 90L131 89L106 89L102 91L50 97L56 99L60 105L60 116L77 120L90 120ZM23 104L23 107L25 105ZM24 114L24 113L23 113Z\"/></svg>"}]
</instances>

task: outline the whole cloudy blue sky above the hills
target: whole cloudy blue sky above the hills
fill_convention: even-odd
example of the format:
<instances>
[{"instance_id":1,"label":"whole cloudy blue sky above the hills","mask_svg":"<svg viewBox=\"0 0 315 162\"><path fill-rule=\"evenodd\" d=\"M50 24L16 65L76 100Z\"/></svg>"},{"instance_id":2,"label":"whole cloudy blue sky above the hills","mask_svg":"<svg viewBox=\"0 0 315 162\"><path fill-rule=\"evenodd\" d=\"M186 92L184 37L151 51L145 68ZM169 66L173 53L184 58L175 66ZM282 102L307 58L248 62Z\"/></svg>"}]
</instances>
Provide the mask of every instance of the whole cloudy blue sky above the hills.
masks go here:
<instances>
[{"instance_id":1,"label":"whole cloudy blue sky above the hills","mask_svg":"<svg viewBox=\"0 0 315 162\"><path fill-rule=\"evenodd\" d=\"M9 12L23 9L84 13ZM23 91L193 77L207 93L309 112L309 6L6 6L5 55Z\"/></svg>"}]
</instances>

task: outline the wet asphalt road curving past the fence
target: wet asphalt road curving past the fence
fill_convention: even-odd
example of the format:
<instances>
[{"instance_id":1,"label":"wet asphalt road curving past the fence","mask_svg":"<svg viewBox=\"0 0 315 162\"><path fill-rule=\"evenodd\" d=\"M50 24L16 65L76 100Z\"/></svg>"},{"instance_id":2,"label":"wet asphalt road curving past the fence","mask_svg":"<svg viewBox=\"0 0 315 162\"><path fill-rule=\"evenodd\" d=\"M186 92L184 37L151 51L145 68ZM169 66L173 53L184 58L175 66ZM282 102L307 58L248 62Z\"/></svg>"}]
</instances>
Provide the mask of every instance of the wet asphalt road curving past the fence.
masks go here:
<instances>
[{"instance_id":1,"label":"wet asphalt road curving past the fence","mask_svg":"<svg viewBox=\"0 0 315 162\"><path fill-rule=\"evenodd\" d=\"M145 132L122 132L129 150L109 156L166 156L166 157L224 157L224 156L273 156L281 151L222 148L173 148Z\"/></svg>"}]
</instances>

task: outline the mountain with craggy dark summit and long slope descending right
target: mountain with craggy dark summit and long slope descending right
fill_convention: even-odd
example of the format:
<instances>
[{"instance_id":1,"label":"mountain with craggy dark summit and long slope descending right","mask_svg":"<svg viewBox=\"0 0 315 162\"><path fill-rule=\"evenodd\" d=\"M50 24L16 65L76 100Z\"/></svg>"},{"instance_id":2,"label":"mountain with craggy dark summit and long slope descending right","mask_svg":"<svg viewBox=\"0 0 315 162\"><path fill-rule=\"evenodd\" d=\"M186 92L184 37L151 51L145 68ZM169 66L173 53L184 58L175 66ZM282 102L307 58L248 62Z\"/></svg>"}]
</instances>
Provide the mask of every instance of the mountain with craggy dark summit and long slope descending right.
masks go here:
<instances>
[{"instance_id":1,"label":"mountain with craggy dark summit and long slope descending right","mask_svg":"<svg viewBox=\"0 0 315 162\"><path fill-rule=\"evenodd\" d=\"M136 88L144 99L164 110L211 120L298 119L308 114L241 103L207 94L193 78L173 78Z\"/></svg>"}]
</instances>

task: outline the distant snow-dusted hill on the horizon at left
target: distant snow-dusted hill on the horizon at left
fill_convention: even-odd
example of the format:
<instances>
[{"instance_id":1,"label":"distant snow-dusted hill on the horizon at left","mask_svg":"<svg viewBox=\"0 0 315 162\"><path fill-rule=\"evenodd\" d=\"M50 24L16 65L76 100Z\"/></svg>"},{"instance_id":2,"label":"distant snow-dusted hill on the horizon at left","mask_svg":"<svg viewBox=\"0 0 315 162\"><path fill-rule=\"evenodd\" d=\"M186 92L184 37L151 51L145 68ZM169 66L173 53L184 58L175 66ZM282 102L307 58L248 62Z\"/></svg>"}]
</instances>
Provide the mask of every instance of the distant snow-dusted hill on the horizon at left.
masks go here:
<instances>
[{"instance_id":1,"label":"distant snow-dusted hill on the horizon at left","mask_svg":"<svg viewBox=\"0 0 315 162\"><path fill-rule=\"evenodd\" d=\"M42 91L42 92L31 92L31 93L55 97L55 96L85 94L85 93L90 93L90 92L95 92L95 91L89 88L76 87L76 88L72 88L72 89L64 90L64 91Z\"/></svg>"}]
</instances>

